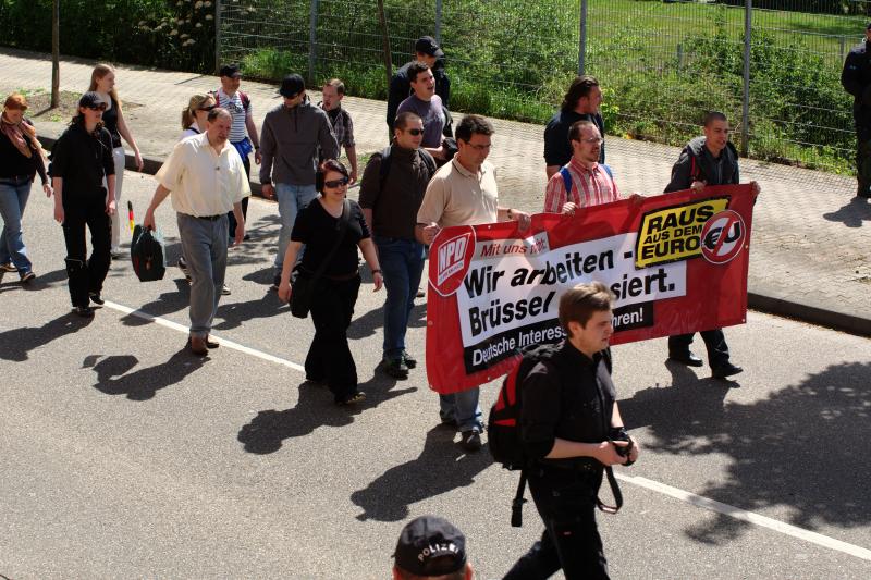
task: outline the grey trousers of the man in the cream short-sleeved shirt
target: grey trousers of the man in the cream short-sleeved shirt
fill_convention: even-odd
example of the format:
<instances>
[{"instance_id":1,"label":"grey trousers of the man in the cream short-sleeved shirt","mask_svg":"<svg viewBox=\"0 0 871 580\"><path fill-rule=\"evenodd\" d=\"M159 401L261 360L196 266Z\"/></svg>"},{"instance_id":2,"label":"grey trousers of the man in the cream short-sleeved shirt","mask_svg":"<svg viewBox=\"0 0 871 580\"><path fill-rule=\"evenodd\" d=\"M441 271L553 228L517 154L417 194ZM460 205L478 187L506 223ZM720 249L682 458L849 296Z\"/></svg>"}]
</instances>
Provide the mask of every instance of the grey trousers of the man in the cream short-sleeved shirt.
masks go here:
<instances>
[{"instance_id":1,"label":"grey trousers of the man in the cream short-sleeved shirt","mask_svg":"<svg viewBox=\"0 0 871 580\"><path fill-rule=\"evenodd\" d=\"M191 273L191 335L206 337L211 331L226 272L228 219L177 214L182 254Z\"/></svg>"}]
</instances>

